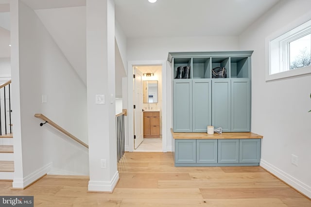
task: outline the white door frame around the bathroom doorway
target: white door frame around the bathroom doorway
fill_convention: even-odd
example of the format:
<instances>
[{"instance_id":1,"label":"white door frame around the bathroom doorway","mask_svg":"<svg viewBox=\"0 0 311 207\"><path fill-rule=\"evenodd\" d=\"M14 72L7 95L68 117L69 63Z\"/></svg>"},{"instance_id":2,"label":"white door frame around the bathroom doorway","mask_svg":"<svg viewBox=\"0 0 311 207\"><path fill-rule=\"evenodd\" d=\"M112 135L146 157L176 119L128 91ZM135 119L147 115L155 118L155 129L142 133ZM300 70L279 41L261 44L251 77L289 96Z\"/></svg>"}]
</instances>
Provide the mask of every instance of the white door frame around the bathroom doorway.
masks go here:
<instances>
[{"instance_id":1,"label":"white door frame around the bathroom doorway","mask_svg":"<svg viewBox=\"0 0 311 207\"><path fill-rule=\"evenodd\" d=\"M167 152L167 77L166 61L130 61L127 64L128 85L128 151L134 151L134 110L133 109L133 67L134 66L162 66L162 151Z\"/></svg>"}]
</instances>

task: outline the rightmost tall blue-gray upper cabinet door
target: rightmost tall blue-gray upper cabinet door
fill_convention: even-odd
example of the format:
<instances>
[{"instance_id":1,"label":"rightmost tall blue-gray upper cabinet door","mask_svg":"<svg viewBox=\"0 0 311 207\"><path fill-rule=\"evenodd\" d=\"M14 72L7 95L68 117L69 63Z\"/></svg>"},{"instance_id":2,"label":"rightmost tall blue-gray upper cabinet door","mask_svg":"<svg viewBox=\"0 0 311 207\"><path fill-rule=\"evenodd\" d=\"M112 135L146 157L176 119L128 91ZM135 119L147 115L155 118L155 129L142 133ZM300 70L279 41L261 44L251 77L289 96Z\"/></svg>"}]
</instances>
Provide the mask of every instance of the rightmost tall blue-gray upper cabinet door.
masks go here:
<instances>
[{"instance_id":1,"label":"rightmost tall blue-gray upper cabinet door","mask_svg":"<svg viewBox=\"0 0 311 207\"><path fill-rule=\"evenodd\" d=\"M250 131L250 80L231 79L231 131Z\"/></svg>"}]
</instances>

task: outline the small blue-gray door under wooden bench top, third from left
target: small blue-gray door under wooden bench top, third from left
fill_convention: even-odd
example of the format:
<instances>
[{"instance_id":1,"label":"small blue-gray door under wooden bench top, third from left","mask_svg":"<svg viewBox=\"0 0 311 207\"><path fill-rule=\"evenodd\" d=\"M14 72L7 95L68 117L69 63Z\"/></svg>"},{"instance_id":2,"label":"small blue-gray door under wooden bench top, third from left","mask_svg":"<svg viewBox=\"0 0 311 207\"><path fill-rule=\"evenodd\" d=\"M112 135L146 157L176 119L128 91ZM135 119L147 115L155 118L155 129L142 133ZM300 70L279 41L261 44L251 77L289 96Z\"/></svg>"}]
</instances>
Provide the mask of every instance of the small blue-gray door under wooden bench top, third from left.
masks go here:
<instances>
[{"instance_id":1,"label":"small blue-gray door under wooden bench top, third from left","mask_svg":"<svg viewBox=\"0 0 311 207\"><path fill-rule=\"evenodd\" d=\"M239 162L239 140L224 139L218 140L218 162L238 163Z\"/></svg>"}]
</instances>

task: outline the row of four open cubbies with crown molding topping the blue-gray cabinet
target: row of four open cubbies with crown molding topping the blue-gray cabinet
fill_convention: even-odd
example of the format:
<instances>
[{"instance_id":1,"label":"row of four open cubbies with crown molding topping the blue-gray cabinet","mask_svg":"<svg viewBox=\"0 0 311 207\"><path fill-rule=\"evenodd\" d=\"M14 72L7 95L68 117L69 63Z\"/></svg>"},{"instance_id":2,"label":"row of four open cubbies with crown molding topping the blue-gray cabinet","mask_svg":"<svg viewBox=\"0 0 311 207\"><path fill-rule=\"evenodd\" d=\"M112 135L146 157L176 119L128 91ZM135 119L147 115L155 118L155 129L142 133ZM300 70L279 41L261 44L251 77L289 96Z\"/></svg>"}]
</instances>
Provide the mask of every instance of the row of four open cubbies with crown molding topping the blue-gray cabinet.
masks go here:
<instances>
[{"instance_id":1,"label":"row of four open cubbies with crown molding topping the blue-gray cabinet","mask_svg":"<svg viewBox=\"0 0 311 207\"><path fill-rule=\"evenodd\" d=\"M225 67L226 78L250 78L253 51L170 52L174 79L210 79L212 69ZM189 72L188 72L189 71Z\"/></svg>"}]
</instances>

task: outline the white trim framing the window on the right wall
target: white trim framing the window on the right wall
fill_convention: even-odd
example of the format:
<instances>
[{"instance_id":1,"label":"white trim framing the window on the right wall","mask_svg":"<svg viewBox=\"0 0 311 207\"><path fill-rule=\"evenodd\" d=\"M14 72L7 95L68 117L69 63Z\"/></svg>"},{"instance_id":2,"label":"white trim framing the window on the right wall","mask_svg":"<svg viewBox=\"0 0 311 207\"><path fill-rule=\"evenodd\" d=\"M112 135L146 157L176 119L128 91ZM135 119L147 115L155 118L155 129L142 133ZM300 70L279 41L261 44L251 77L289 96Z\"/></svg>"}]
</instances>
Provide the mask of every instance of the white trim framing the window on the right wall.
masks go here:
<instances>
[{"instance_id":1,"label":"white trim framing the window on the right wall","mask_svg":"<svg viewBox=\"0 0 311 207\"><path fill-rule=\"evenodd\" d=\"M277 37L287 33L287 32L290 32L291 30L294 30L296 27L300 26L301 24L306 23L307 21L310 21L311 20L310 16L311 16L311 12L307 13L304 16L301 16L300 18L297 18L296 20L294 20L293 22L291 22L287 26L283 27L282 29L280 29L280 30L278 30L278 31L276 31L276 32L274 32L274 33L272 33L266 37L266 39L265 39L265 80L266 81L284 79L284 78L295 77L295 76L301 76L301 75L311 73L311 66L307 66L307 67L303 67L303 68L297 68L297 69L293 69L293 70L286 70L283 72L270 74L271 73L271 61L270 61L271 54L270 54L270 52L271 52L271 47L272 47L271 41L276 39ZM280 43L281 42L284 42L284 41L282 40L282 41L280 41ZM285 54L278 54L278 56L282 56L283 58L286 55ZM283 62L281 63L280 61L281 60L278 61L279 67L281 67L281 64L283 67L284 63ZM287 64L285 64L285 65L287 65Z\"/></svg>"}]
</instances>

